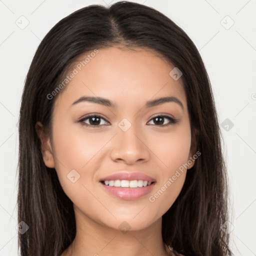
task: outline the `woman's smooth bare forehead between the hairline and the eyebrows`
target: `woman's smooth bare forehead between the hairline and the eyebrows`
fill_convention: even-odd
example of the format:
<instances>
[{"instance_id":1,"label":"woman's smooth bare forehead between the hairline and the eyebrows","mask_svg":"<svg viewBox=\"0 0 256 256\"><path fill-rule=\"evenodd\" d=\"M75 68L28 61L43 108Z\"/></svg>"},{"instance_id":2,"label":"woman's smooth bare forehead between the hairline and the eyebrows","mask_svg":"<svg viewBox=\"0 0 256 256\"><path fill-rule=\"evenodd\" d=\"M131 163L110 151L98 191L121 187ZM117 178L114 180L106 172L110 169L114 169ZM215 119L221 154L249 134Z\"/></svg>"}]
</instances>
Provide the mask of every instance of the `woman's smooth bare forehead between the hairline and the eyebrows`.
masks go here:
<instances>
[{"instance_id":1,"label":"woman's smooth bare forehead between the hairline and the eyebrows","mask_svg":"<svg viewBox=\"0 0 256 256\"><path fill-rule=\"evenodd\" d=\"M81 96L99 96L122 108L174 96L186 108L182 80L169 75L174 66L159 54L142 48L109 47L97 51L77 58L70 69L75 74L57 101L71 105Z\"/></svg>"}]
</instances>

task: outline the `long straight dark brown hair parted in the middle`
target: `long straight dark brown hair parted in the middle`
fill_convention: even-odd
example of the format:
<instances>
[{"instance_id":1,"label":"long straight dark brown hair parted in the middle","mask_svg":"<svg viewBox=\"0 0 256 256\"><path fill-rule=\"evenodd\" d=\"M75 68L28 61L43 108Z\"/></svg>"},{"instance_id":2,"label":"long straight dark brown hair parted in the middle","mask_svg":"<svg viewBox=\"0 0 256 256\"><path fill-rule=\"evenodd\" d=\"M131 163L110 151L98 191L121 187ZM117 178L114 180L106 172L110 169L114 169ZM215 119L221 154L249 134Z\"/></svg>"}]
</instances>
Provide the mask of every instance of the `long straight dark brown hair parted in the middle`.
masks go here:
<instances>
[{"instance_id":1,"label":"long straight dark brown hair parted in the middle","mask_svg":"<svg viewBox=\"0 0 256 256\"><path fill-rule=\"evenodd\" d=\"M187 172L173 205L162 216L163 241L175 254L232 255L228 233L227 174L210 81L198 50L172 20L134 2L109 7L90 5L61 19L39 44L28 70L19 117L18 222L21 256L60 255L75 237L72 201L64 193L55 169L45 166L35 123L49 127L51 93L70 64L84 52L113 45L154 50L182 71L191 132L201 155Z\"/></svg>"}]
</instances>

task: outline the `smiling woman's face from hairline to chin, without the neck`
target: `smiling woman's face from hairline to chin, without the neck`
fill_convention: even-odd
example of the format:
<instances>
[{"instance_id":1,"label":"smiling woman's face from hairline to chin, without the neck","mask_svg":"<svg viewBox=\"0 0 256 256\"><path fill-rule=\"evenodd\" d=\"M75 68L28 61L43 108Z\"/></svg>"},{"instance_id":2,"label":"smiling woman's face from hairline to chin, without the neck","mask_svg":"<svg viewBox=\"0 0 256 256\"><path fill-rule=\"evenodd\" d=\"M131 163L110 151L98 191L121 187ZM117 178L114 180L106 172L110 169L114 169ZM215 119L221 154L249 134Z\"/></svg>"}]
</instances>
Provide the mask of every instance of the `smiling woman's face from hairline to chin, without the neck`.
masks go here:
<instances>
[{"instance_id":1,"label":"smiling woman's face from hairline to chin, without the neck","mask_svg":"<svg viewBox=\"0 0 256 256\"><path fill-rule=\"evenodd\" d=\"M184 164L194 153L182 81L169 74L174 66L149 50L98 49L81 65L88 54L55 95L52 140L47 139L44 162L55 168L80 219L139 230L173 204L185 180ZM98 103L81 97L95 97ZM161 97L176 100L154 101ZM86 118L89 114L93 116ZM135 172L140 176L129 176ZM106 178L112 174L117 176ZM129 181L150 178L150 185Z\"/></svg>"}]
</instances>

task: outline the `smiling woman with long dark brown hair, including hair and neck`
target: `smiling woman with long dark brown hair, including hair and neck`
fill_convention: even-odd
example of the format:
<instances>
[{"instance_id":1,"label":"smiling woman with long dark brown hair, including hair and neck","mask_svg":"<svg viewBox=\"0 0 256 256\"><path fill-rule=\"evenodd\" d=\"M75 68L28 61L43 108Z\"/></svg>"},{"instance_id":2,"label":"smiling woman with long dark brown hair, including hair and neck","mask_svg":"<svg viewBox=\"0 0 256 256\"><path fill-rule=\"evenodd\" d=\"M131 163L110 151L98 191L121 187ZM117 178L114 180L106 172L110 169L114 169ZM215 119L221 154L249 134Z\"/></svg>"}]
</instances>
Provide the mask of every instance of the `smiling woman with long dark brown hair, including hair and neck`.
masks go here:
<instances>
[{"instance_id":1,"label":"smiling woman with long dark brown hair, including hair and neck","mask_svg":"<svg viewBox=\"0 0 256 256\"><path fill-rule=\"evenodd\" d=\"M90 5L38 46L19 119L21 255L231 255L210 82L148 6Z\"/></svg>"}]
</instances>

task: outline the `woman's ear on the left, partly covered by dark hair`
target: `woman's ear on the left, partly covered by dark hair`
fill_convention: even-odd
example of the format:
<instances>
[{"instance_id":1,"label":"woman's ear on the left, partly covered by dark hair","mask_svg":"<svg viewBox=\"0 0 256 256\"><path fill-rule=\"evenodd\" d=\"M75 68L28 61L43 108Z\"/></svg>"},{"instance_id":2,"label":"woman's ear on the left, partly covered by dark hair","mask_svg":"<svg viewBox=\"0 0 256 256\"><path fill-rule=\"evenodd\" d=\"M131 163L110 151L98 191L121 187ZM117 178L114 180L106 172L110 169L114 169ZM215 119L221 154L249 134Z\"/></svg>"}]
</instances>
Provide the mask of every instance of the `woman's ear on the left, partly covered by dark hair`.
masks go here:
<instances>
[{"instance_id":1,"label":"woman's ear on the left, partly covered by dark hair","mask_svg":"<svg viewBox=\"0 0 256 256\"><path fill-rule=\"evenodd\" d=\"M40 139L40 150L42 153L44 164L49 168L54 168L54 157L48 132L45 131L43 125L39 121L37 121L35 124L35 130L38 138Z\"/></svg>"}]
</instances>

